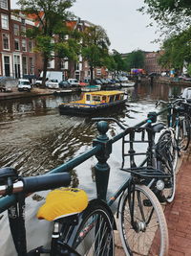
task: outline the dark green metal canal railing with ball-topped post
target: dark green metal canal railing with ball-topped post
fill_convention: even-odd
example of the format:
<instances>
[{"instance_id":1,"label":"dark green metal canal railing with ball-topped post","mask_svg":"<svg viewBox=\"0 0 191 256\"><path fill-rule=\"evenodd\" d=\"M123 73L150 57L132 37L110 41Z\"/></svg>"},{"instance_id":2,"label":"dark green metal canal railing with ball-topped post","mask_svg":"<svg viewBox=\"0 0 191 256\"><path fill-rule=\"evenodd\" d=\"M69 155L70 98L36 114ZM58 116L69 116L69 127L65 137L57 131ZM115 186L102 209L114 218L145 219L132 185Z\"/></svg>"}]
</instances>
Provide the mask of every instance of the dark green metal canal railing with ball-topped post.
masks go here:
<instances>
[{"instance_id":1,"label":"dark green metal canal railing with ball-topped post","mask_svg":"<svg viewBox=\"0 0 191 256\"><path fill-rule=\"evenodd\" d=\"M152 120L153 123L155 123L157 116L159 116L160 114L162 114L167 110L168 110L168 107L165 109L162 109L158 113L150 112L148 114L148 118L138 123L134 128L143 126L144 124L147 123L148 120ZM74 167L78 166L79 164L83 163L84 161L86 161L87 159L95 155L97 159L97 163L95 166L96 194L97 194L97 198L106 200L108 181L109 181L109 175L110 175L110 166L108 165L107 160L110 157L110 154L112 153L112 145L115 142L117 142L119 139L124 137L125 135L129 134L131 131L131 128L126 128L120 133L118 133L115 137L109 139L109 137L106 134L108 129L109 129L109 126L106 121L98 122L97 130L99 134L97 135L96 139L93 140L93 148L89 151L85 151L84 153L81 153L80 155L74 157L74 159L54 168L46 175L69 172L70 170L74 169ZM16 199L14 195L0 198L0 213L7 210L15 201Z\"/></svg>"}]
</instances>

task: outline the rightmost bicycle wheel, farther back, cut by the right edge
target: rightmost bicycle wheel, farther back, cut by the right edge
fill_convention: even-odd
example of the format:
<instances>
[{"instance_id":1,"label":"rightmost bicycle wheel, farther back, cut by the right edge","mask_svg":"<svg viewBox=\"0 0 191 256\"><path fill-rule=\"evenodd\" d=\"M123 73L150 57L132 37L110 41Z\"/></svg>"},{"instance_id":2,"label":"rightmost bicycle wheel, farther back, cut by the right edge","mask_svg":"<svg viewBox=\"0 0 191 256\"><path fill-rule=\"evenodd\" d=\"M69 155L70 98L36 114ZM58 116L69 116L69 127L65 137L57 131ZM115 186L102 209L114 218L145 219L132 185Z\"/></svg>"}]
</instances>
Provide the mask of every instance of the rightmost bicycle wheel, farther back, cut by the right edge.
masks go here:
<instances>
[{"instance_id":1,"label":"rightmost bicycle wheel, farther back, cut by the right edge","mask_svg":"<svg viewBox=\"0 0 191 256\"><path fill-rule=\"evenodd\" d=\"M190 143L190 120L187 116L180 116L177 141L180 151L186 151Z\"/></svg>"}]
</instances>

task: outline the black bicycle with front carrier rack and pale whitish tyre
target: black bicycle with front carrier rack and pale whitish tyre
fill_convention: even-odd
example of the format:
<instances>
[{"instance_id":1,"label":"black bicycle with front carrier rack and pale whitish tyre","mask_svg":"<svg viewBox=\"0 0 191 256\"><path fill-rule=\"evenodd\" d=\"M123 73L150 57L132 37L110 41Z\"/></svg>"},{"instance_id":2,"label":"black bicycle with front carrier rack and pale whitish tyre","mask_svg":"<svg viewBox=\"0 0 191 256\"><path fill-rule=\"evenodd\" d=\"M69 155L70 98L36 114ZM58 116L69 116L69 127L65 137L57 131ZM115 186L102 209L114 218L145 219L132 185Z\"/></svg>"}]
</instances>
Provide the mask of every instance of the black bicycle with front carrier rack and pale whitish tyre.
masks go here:
<instances>
[{"instance_id":1,"label":"black bicycle with front carrier rack and pale whitish tyre","mask_svg":"<svg viewBox=\"0 0 191 256\"><path fill-rule=\"evenodd\" d=\"M148 119L149 121L151 120L150 118ZM121 195L118 204L117 217L119 220L119 234L126 255L133 255L134 253L136 255L165 255L168 250L168 231L165 217L159 204L159 199L154 194L153 188L156 188L156 183L159 180L157 190L161 190L161 180L169 179L171 174L164 174L162 171L154 169L153 166L151 166L151 162L154 161L152 154L150 154L150 157L137 167L134 161L134 156L141 153L136 153L133 149L133 144L135 143L135 132L144 132L145 130L149 132L149 135L152 135L152 139L150 140L150 149L153 149L153 130L155 130L155 132L159 132L159 130L163 128L163 125L157 124L152 127L151 123L147 122L145 128L125 128L114 118L93 118L93 120L116 122L117 125L124 130L122 134L120 133L120 135L117 135L122 137L123 145L125 136L127 134L130 136L130 140L125 141L125 143L130 144L130 153L126 154L126 156L130 155L130 162L132 166L129 169L124 168L123 159L121 168L122 171L130 173L130 178L127 181L128 183L122 185L115 196L108 200L108 204L111 206L118 196ZM114 138L114 140L116 139ZM123 149L123 157L124 155ZM143 167L146 162L148 165ZM156 194L157 190L155 191ZM158 251L156 252L153 251L154 245L152 244L156 239L154 234L157 229L154 228L154 230L151 230L152 228L150 229L150 226L153 225L153 220L157 219L158 221L156 221L155 224L156 226L159 225L158 232L160 232L160 243L155 244L155 246L158 247ZM153 232L153 236L150 232ZM148 240L148 237L150 237L150 244L146 244L145 238Z\"/></svg>"}]
</instances>

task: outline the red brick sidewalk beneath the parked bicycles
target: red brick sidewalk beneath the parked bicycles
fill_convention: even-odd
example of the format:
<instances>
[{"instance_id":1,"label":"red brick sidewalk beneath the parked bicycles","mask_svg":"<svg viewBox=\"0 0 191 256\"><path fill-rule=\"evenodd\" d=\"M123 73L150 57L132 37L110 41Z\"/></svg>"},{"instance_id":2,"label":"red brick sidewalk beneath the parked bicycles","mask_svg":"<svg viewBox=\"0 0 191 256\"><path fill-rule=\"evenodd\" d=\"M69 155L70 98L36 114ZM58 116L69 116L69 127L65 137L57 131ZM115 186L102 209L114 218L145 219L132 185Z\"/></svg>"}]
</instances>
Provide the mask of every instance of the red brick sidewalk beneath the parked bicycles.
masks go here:
<instances>
[{"instance_id":1,"label":"red brick sidewalk beneath the parked bicycles","mask_svg":"<svg viewBox=\"0 0 191 256\"><path fill-rule=\"evenodd\" d=\"M168 256L191 256L191 147L182 157L175 199L164 210L169 232ZM115 255L123 256L119 234L115 232Z\"/></svg>"}]
</instances>

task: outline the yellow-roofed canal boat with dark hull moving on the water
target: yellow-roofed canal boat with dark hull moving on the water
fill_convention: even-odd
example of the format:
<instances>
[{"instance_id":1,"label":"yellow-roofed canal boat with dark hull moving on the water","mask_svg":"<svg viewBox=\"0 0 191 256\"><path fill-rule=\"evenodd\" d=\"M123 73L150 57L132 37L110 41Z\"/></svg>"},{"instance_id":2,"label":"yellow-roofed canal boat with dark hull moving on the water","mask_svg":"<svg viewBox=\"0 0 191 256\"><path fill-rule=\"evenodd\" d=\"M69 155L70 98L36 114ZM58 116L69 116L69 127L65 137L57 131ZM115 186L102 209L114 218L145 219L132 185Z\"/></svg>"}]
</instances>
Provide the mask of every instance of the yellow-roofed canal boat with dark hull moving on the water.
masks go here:
<instances>
[{"instance_id":1,"label":"yellow-roofed canal boat with dark hull moving on the water","mask_svg":"<svg viewBox=\"0 0 191 256\"><path fill-rule=\"evenodd\" d=\"M60 114L63 115L94 115L102 111L127 102L123 91L95 91L86 92L79 101L59 105Z\"/></svg>"}]
</instances>

